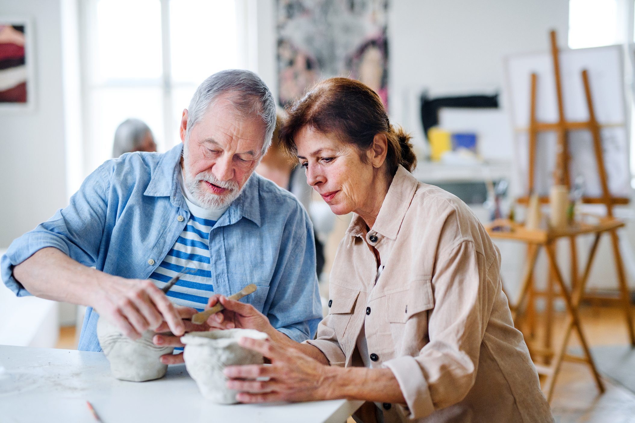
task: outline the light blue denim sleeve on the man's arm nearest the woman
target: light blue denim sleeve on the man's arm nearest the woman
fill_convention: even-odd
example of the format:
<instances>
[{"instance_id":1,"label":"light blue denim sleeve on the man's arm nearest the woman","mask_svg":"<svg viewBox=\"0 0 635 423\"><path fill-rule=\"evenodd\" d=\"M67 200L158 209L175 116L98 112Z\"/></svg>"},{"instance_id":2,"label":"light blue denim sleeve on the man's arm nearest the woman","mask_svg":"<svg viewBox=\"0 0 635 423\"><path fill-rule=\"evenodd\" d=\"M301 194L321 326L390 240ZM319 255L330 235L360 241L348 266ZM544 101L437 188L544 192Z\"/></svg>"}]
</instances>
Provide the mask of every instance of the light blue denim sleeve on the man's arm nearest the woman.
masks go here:
<instances>
[{"instance_id":1,"label":"light blue denim sleeve on the man's arm nearest the woman","mask_svg":"<svg viewBox=\"0 0 635 423\"><path fill-rule=\"evenodd\" d=\"M316 275L316 248L309 215L300 204L285 225L276 275L275 296L267 317L293 341L312 339L322 320Z\"/></svg>"}]
</instances>

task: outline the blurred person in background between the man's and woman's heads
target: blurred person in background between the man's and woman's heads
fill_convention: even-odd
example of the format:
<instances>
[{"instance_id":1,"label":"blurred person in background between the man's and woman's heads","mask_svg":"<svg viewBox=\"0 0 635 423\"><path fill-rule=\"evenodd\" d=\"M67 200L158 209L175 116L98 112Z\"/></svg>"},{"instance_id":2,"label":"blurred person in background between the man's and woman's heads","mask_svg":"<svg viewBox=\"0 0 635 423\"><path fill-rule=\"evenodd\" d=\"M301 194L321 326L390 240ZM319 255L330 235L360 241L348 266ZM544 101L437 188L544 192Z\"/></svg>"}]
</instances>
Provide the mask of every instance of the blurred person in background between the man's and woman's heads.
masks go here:
<instances>
[{"instance_id":1,"label":"blurred person in background between the man's and woman's heads","mask_svg":"<svg viewBox=\"0 0 635 423\"><path fill-rule=\"evenodd\" d=\"M309 206L311 205L312 188L307 184L307 175L302 166L293 163L280 146L278 130L283 121L283 115L277 113L276 129L271 140L271 146L258 167L256 167L256 172L260 176L275 182L277 186L290 191L304 205L307 212L311 214ZM324 245L319 240L317 231L314 231L314 239L316 244L316 273L319 278L324 270Z\"/></svg>"}]
</instances>

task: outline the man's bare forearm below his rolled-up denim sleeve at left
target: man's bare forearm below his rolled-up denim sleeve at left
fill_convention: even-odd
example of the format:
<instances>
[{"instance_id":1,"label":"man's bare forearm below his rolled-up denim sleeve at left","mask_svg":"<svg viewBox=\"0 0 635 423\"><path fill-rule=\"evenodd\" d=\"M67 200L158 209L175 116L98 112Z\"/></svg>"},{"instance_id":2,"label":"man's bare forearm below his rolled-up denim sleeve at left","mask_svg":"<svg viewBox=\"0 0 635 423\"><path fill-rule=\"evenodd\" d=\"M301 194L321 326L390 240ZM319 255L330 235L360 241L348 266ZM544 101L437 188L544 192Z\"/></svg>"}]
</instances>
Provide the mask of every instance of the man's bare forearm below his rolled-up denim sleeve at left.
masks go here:
<instances>
[{"instance_id":1,"label":"man's bare forearm below his rolled-up denim sleeve at left","mask_svg":"<svg viewBox=\"0 0 635 423\"><path fill-rule=\"evenodd\" d=\"M36 297L90 306L95 283L108 275L47 247L15 266L13 277Z\"/></svg>"}]
</instances>

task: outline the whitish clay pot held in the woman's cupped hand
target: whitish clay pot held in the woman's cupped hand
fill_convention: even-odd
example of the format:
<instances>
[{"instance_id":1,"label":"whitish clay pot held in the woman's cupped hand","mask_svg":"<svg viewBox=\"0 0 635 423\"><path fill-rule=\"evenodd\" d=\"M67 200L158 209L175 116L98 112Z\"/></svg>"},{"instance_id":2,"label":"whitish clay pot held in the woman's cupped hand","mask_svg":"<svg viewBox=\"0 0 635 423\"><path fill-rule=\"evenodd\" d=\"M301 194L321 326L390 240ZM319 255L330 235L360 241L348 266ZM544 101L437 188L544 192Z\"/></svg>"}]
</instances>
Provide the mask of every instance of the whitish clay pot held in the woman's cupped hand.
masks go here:
<instances>
[{"instance_id":1,"label":"whitish clay pot held in the woman's cupped hand","mask_svg":"<svg viewBox=\"0 0 635 423\"><path fill-rule=\"evenodd\" d=\"M181 337L185 344L184 360L187 372L196 381L201 394L219 404L234 404L238 391L227 388L223 370L231 365L262 364L262 354L238 345L238 339L267 339L264 332L253 329L212 330L190 332Z\"/></svg>"}]
</instances>

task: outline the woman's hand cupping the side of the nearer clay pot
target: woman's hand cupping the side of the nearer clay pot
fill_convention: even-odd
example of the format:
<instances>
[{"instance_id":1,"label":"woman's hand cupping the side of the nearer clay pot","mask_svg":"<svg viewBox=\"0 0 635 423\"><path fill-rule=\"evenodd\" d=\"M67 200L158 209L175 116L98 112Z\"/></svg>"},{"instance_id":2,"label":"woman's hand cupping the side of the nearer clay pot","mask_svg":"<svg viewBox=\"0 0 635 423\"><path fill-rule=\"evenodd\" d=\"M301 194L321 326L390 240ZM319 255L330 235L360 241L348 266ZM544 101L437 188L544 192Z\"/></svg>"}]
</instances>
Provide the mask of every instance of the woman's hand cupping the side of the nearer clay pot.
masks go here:
<instances>
[{"instance_id":1,"label":"woman's hand cupping the side of the nearer clay pot","mask_svg":"<svg viewBox=\"0 0 635 423\"><path fill-rule=\"evenodd\" d=\"M268 401L316 401L335 398L333 386L338 368L323 365L290 346L271 341L241 338L239 345L271 360L271 365L229 366L227 387L241 391L241 403ZM268 381L257 378L268 377Z\"/></svg>"}]
</instances>

